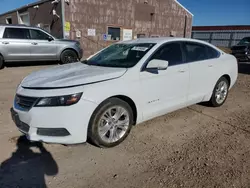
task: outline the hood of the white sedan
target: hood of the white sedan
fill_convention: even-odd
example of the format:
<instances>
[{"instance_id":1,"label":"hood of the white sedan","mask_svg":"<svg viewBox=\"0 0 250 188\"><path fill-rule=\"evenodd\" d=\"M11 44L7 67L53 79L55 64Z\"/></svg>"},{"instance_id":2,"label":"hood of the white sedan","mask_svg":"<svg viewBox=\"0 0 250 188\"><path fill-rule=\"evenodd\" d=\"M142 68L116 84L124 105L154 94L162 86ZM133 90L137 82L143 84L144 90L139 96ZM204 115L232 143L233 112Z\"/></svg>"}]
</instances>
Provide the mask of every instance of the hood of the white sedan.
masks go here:
<instances>
[{"instance_id":1,"label":"hood of the white sedan","mask_svg":"<svg viewBox=\"0 0 250 188\"><path fill-rule=\"evenodd\" d=\"M126 68L89 66L79 63L60 65L28 75L21 86L30 89L75 87L121 77Z\"/></svg>"}]
</instances>

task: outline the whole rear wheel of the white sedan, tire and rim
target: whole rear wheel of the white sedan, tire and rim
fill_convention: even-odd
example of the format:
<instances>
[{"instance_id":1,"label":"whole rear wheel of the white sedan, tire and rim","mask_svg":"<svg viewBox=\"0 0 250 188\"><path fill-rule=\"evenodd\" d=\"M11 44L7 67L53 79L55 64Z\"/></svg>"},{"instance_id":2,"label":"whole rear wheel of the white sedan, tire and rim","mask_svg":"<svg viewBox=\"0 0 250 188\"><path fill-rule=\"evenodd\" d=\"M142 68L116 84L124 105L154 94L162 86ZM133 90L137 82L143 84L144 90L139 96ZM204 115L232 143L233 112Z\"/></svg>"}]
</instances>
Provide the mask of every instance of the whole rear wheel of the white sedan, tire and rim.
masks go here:
<instances>
[{"instance_id":1,"label":"whole rear wheel of the white sedan, tire and rim","mask_svg":"<svg viewBox=\"0 0 250 188\"><path fill-rule=\"evenodd\" d=\"M223 105L227 99L229 82L225 77L221 77L215 85L210 104L214 107Z\"/></svg>"}]
</instances>

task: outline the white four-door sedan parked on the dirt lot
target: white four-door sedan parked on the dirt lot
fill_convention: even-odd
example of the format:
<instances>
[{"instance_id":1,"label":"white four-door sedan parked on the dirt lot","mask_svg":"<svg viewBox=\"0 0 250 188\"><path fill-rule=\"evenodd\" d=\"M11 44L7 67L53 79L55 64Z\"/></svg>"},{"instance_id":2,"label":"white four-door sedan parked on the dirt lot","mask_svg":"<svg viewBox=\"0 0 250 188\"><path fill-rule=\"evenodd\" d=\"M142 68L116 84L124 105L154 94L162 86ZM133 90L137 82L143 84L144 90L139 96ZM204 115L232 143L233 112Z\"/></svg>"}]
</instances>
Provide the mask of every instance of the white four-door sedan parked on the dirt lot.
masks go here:
<instances>
[{"instance_id":1,"label":"white four-door sedan parked on the dirt lot","mask_svg":"<svg viewBox=\"0 0 250 188\"><path fill-rule=\"evenodd\" d=\"M206 42L124 41L30 74L11 114L32 141L113 147L135 124L200 102L221 106L237 76L236 58Z\"/></svg>"}]
</instances>

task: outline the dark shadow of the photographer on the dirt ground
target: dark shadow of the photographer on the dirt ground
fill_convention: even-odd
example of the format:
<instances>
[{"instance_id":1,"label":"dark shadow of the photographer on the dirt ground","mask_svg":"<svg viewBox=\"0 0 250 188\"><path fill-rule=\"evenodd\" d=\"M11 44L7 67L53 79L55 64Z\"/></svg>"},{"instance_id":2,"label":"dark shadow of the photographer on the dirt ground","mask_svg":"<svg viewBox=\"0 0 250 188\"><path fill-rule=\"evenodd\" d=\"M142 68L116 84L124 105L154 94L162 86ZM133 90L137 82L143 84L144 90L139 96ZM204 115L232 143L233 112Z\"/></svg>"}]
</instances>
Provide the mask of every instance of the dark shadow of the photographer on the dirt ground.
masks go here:
<instances>
[{"instance_id":1,"label":"dark shadow of the photographer on the dirt ground","mask_svg":"<svg viewBox=\"0 0 250 188\"><path fill-rule=\"evenodd\" d=\"M0 187L46 188L45 175L55 176L58 166L42 143L25 136L17 140L17 150L0 166ZM34 152L36 148L39 152Z\"/></svg>"}]
</instances>

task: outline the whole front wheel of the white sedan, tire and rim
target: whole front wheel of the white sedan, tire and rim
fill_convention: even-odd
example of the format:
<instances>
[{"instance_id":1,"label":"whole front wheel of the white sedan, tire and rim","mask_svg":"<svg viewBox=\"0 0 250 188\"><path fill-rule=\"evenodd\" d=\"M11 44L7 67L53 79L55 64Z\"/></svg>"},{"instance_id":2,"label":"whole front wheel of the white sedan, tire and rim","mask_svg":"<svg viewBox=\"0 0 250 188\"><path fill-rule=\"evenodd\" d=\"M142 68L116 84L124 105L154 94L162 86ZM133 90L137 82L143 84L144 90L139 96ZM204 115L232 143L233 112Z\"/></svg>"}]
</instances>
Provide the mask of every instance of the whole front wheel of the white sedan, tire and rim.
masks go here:
<instances>
[{"instance_id":1,"label":"whole front wheel of the white sedan, tire and rim","mask_svg":"<svg viewBox=\"0 0 250 188\"><path fill-rule=\"evenodd\" d=\"M99 147L114 147L125 140L132 124L133 112L128 103L118 98L110 98L92 115L88 138Z\"/></svg>"}]
</instances>

